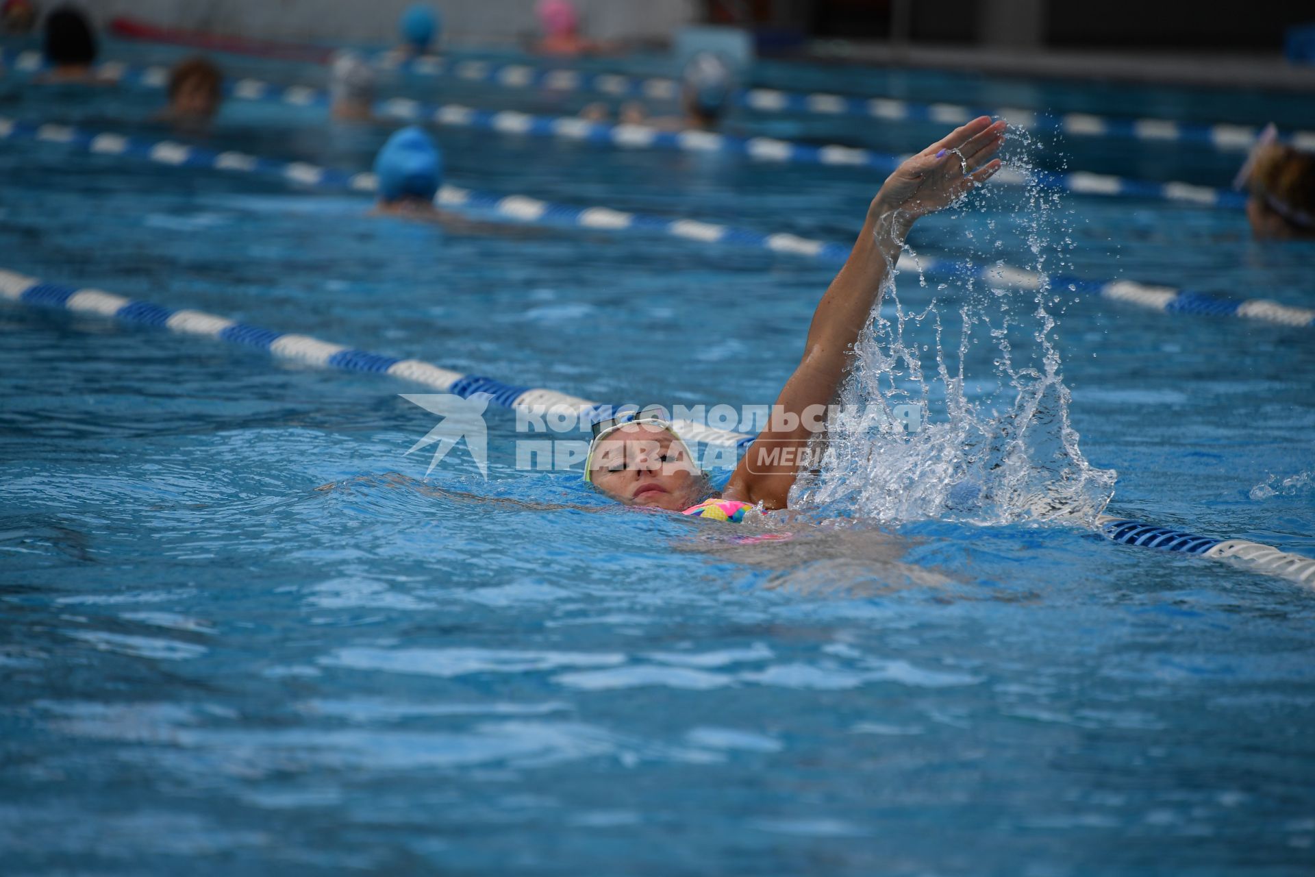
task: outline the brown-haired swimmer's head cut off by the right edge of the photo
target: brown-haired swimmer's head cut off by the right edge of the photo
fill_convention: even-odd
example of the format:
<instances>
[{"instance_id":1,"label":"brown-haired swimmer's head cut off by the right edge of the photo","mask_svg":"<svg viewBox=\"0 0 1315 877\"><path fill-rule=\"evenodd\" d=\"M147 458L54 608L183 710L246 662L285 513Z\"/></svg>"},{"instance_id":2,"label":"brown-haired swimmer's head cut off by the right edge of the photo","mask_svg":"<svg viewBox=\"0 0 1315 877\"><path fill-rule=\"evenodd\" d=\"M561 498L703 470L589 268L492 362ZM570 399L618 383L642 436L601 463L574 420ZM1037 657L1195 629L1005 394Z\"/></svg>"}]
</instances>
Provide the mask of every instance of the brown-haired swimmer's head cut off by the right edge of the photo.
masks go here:
<instances>
[{"instance_id":1,"label":"brown-haired swimmer's head cut off by the right edge of the photo","mask_svg":"<svg viewBox=\"0 0 1315 877\"><path fill-rule=\"evenodd\" d=\"M1278 142L1269 125L1233 188L1247 188L1247 220L1258 239L1315 239L1315 154Z\"/></svg>"}]
</instances>

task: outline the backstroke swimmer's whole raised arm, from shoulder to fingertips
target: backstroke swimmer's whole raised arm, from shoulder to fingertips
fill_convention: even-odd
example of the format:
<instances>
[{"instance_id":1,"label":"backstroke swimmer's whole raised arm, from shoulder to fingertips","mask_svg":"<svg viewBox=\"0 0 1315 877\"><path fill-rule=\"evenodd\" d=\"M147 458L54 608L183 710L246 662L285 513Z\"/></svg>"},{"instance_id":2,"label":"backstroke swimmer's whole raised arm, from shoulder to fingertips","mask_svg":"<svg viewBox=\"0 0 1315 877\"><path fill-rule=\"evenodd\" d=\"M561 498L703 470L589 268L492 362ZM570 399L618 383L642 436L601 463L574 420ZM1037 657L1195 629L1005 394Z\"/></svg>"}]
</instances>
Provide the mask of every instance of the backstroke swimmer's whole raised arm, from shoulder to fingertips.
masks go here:
<instances>
[{"instance_id":1,"label":"backstroke swimmer's whole raised arm, from shoulder to fingertips","mask_svg":"<svg viewBox=\"0 0 1315 877\"><path fill-rule=\"evenodd\" d=\"M992 156L1003 139L1005 122L974 118L886 179L872 199L849 258L813 314L803 358L785 381L767 429L731 475L722 492L725 498L785 508L798 472L798 454L822 426L810 414L819 410L814 406L825 408L835 398L849 350L881 296L905 235L918 217L947 206L998 171L999 160Z\"/></svg>"}]
</instances>

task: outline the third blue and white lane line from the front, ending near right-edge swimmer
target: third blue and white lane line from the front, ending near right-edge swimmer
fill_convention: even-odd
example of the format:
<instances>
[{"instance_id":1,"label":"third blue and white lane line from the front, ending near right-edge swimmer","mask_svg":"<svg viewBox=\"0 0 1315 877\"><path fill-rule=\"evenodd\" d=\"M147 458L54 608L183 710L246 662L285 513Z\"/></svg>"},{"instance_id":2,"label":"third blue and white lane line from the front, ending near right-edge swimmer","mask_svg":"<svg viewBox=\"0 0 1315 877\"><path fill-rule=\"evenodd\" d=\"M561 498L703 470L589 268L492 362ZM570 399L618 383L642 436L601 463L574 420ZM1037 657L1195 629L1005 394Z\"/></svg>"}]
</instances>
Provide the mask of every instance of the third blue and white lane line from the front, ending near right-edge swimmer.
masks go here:
<instances>
[{"instance_id":1,"label":"third blue and white lane line from the front, ending near right-edge swimmer","mask_svg":"<svg viewBox=\"0 0 1315 877\"><path fill-rule=\"evenodd\" d=\"M14 64L14 68L22 72L39 70L42 64L39 54L26 53L26 55L20 59L21 64ZM129 67L118 62L105 62L99 64L96 71L105 79L146 88L163 88L168 82L168 70L159 66ZM293 107L329 105L329 95L325 89L309 85L275 85L259 79L239 79L235 83L226 83L225 92L237 100L275 101ZM769 137L734 137L700 130L665 131L648 125L590 122L579 116L534 116L509 109L487 110L463 104L422 104L409 97L380 100L375 104L375 112L381 117L400 122L430 122L447 128L548 137L617 149L721 153L777 164L856 167L878 174L892 172L905 158L840 145L813 146ZM1027 175L1006 167L995 174L994 179L997 184L1027 185L1035 183L1041 188L1073 195L1144 199L1233 210L1247 205L1247 196L1240 192L1193 183L1130 180L1122 176L1085 171L1052 174L1034 170Z\"/></svg>"}]
</instances>

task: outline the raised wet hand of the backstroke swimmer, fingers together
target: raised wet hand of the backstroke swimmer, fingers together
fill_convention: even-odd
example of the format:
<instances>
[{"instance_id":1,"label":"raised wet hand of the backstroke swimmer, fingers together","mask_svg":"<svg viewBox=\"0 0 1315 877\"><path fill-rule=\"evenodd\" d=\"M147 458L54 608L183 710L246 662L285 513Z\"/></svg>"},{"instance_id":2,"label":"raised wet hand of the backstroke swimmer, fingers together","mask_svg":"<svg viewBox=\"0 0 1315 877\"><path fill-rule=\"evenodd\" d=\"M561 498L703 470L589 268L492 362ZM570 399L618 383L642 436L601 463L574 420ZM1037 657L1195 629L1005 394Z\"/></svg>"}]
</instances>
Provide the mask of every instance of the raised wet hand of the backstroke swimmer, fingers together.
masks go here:
<instances>
[{"instance_id":1,"label":"raised wet hand of the backstroke swimmer, fingers together","mask_svg":"<svg viewBox=\"0 0 1315 877\"><path fill-rule=\"evenodd\" d=\"M918 217L985 183L1001 168L999 159L992 156L1005 142L1005 128L1003 120L993 124L989 116L980 116L905 160L872 199L868 220L902 237L898 233L907 231Z\"/></svg>"}]
</instances>

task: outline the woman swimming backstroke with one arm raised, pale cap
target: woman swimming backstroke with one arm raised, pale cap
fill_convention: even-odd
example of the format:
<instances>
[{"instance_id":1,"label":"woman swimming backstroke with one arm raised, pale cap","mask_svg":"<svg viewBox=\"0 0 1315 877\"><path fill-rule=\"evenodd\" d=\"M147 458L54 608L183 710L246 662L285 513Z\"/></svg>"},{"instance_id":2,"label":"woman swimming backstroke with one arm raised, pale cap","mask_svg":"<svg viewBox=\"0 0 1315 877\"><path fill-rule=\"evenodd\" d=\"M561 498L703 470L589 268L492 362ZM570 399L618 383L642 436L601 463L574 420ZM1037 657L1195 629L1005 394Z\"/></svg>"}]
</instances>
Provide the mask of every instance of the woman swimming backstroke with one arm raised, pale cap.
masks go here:
<instances>
[{"instance_id":1,"label":"woman swimming backstroke with one arm raised, pale cap","mask_svg":"<svg viewBox=\"0 0 1315 877\"><path fill-rule=\"evenodd\" d=\"M909 229L995 174L1001 162L993 156L1003 139L1003 121L974 118L905 160L881 185L853 250L813 314L803 358L776 400L776 410L796 415L793 429L785 423L792 418L773 417L719 496L671 423L658 418L601 425L585 459L585 481L626 505L723 521L738 521L757 505L784 509L797 469L771 451L797 452L814 437L803 414L834 400Z\"/></svg>"}]
</instances>

